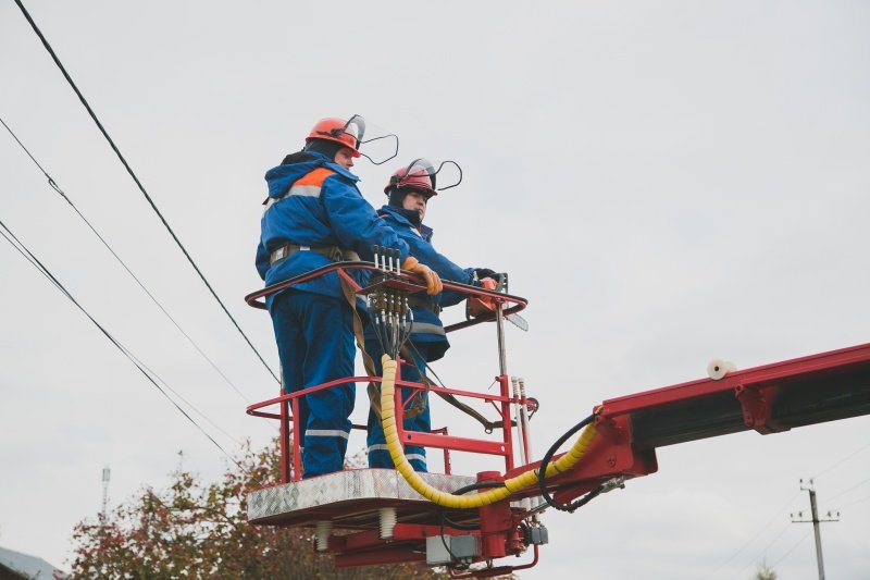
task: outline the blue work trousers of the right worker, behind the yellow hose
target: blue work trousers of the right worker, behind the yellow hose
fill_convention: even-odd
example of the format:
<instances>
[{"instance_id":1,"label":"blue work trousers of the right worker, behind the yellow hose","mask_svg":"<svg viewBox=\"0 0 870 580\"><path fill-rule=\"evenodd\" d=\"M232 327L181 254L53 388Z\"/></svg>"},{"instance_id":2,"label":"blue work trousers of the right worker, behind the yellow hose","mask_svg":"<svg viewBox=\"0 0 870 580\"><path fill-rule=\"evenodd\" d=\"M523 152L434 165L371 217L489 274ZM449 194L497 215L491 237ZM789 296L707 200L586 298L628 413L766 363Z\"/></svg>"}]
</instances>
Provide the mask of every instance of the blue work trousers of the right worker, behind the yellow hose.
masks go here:
<instances>
[{"instance_id":1,"label":"blue work trousers of the right worker, behind the yellow hose","mask_svg":"<svg viewBox=\"0 0 870 580\"><path fill-rule=\"evenodd\" d=\"M402 381L420 382L420 372L418 371L417 367L419 366L421 369L426 368L426 343L415 343L414 346L415 348L410 348L414 360L409 360L407 361L408 365L401 366ZM374 359L375 370L377 371L378 375L383 374L384 371L381 368L381 357L383 356L383 350L381 349L381 345L377 343L377 341L365 341L365 351L372 356L372 359ZM407 386L401 387L401 398L405 402L407 402L408 398L414 393L418 393L418 397L423 397L422 403L425 404L425 408L420 415L405 419L401 423L402 428L406 431L428 433L432 430L432 419L430 416L427 398L428 393L420 392ZM418 400L414 403L420 402ZM381 419L371 409L369 409L369 436L366 443L369 446L369 467L395 469L395 466L393 465L393 458L389 456L389 451L387 449L386 439L384 437L384 428L381 424ZM405 456L408 458L408 462L411 464L411 467L414 468L414 471L428 471L426 468L426 449L424 447L420 447L418 445L406 445Z\"/></svg>"}]
</instances>

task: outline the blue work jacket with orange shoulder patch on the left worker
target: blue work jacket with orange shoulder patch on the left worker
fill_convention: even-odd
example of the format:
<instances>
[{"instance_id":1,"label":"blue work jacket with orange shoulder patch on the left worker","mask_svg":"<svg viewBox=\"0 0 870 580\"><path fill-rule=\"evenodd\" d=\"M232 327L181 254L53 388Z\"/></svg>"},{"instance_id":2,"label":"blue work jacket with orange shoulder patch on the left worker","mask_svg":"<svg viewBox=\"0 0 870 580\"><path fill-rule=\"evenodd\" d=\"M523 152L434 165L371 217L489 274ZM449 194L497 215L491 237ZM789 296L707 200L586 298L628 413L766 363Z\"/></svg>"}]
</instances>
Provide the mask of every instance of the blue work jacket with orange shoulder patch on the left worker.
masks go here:
<instances>
[{"instance_id":1,"label":"blue work jacket with orange shoulder patch on the left worker","mask_svg":"<svg viewBox=\"0 0 870 580\"><path fill-rule=\"evenodd\" d=\"M268 286L332 263L316 251L296 251L270 266L270 254L285 244L340 246L363 260L372 259L372 246L398 248L401 260L408 244L378 219L357 188L359 177L321 153L307 151L308 160L272 168L266 208L260 222L257 271ZM362 281L362 280L360 280ZM303 282L294 289L344 298L338 274ZM275 295L266 298L271 308Z\"/></svg>"}]
</instances>

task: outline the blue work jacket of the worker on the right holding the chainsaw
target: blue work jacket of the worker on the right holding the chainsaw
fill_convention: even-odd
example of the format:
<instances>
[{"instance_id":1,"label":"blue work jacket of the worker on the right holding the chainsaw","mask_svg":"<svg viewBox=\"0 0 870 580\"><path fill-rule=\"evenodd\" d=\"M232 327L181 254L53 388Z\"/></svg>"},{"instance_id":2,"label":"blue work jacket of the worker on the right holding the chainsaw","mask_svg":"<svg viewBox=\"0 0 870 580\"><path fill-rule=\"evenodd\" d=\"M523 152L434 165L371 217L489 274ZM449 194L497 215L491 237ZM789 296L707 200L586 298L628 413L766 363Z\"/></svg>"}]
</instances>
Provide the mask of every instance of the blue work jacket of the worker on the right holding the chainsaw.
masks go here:
<instances>
[{"instance_id":1,"label":"blue work jacket of the worker on the right holding the chainsaw","mask_svg":"<svg viewBox=\"0 0 870 580\"><path fill-rule=\"evenodd\" d=\"M399 239L408 245L411 256L420 260L420 263L432 268L442 280L472 284L474 269L460 268L445 256L438 254L432 245L433 230L422 223L418 227L412 221L412 212L394 208L393 206L384 206L377 213L381 215L382 221L398 234ZM415 296L440 307L453 306L465 299L464 294L448 289L437 296L428 296L424 293L418 293ZM450 347L440 318L431 308L418 306L411 310L414 316L411 340L420 343L432 343L427 345L428 361L438 360ZM366 338L374 338L374 331L371 326L365 329L365 335Z\"/></svg>"}]
</instances>

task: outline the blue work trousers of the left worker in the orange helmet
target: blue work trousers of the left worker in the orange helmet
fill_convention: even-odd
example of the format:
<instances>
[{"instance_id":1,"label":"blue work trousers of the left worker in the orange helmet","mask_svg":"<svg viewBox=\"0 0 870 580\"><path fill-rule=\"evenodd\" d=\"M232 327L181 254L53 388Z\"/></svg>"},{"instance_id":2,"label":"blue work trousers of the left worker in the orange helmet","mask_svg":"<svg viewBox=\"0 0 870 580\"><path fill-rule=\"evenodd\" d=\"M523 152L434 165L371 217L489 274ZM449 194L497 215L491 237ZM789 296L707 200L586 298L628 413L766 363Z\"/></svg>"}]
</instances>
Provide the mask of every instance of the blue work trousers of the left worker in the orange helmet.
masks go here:
<instances>
[{"instance_id":1,"label":"blue work trousers of the left worker in the orange helmet","mask_svg":"<svg viewBox=\"0 0 870 580\"><path fill-rule=\"evenodd\" d=\"M339 298L285 292L272 304L272 324L278 345L286 393L353 377L352 311ZM356 385L339 384L300 400L303 478L345 467Z\"/></svg>"}]
</instances>

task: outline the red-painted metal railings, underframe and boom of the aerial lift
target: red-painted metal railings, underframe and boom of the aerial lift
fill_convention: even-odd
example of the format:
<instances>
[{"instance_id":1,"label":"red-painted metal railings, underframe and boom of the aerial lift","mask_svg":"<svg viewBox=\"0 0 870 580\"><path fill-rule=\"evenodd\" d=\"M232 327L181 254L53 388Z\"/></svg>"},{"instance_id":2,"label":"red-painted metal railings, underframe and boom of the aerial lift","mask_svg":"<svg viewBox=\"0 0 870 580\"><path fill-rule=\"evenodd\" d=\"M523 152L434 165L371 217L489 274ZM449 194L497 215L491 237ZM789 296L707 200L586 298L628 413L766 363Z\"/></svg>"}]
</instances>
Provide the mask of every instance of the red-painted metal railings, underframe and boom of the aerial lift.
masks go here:
<instances>
[{"instance_id":1,"label":"red-painted metal railings, underframe and boom of the aerial lift","mask_svg":"<svg viewBox=\"0 0 870 580\"><path fill-rule=\"evenodd\" d=\"M347 271L355 269L374 270L372 264L365 262L331 264L250 294L246 300L251 306L264 308L262 298L271 293L333 271L352 281ZM422 291L421 286L413 284L412 277L407 275L402 277L402 285L409 289ZM467 294L492 296L502 304L506 314L522 310L526 305L523 298L483 288L449 282L445 282L445 287ZM474 319L452 324L446 330L449 332L486 321L487 319ZM505 457L504 476L482 472L477 474L477 481L504 481L539 466L539 462L514 465L511 405L525 405L526 399L511 396L507 375L496 378L499 393L493 395L402 381L401 366L402 362L399 361L397 385L482 399L495 407L502 428L501 441L457 437L449 435L447 428L432 433L405 431L401 420L403 409L401 390L397 388L395 395L397 427L403 443L444 449L447 473L450 473L450 451ZM281 422L281 469L284 482L298 481L300 476L290 469L291 465L300 465L299 425L293 421L293 417L298 416L299 397L336 384L380 381L378 377L349 377L297 393L283 394L248 407L249 415L277 419ZM264 410L273 405L279 406L278 412ZM794 427L870 414L870 344L734 371L721 380L703 379L617 397L605 400L593 412L598 434L582 460L571 470L546 482L548 491L559 503L571 502L614 478L631 479L654 473L658 469L657 447L749 429L761 434L778 433ZM290 422L293 422L294 442L291 448ZM361 425L355 428L364 429ZM527 441L522 441L521 444L527 445ZM558 457L556 456L554 460ZM437 519L433 525L433 514L437 513L434 510L433 514L421 514L421 519L413 523L397 523L389 540L381 539L376 529L358 529L356 533L348 535L331 536L328 552L335 554L336 566L420 562L424 559L421 550L424 550L426 538L471 534L480 542L480 555L475 562L487 562L489 567L461 573L450 570L450 575L455 578L470 578L510 573L530 568L538 560L538 546L533 545L534 559L531 563L519 566L492 566L492 560L495 558L519 556L525 551L520 523L527 519L530 514L523 508L512 507L511 502L537 495L539 490L537 486L532 486L519 491L502 502L482 507L476 513L462 513L457 521L476 526L477 529L474 531L438 526ZM316 515L318 518L323 518L324 513L328 514L328 506L324 508L324 511ZM262 523L279 525L281 520L270 518ZM300 522L295 520L294 525ZM310 526L313 521L301 525Z\"/></svg>"}]
</instances>

